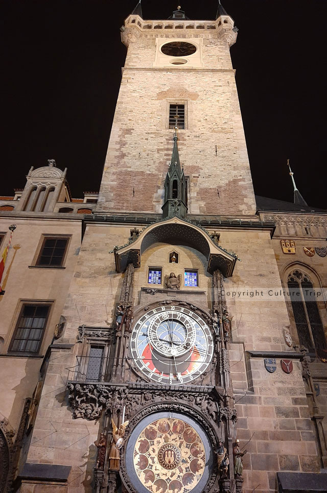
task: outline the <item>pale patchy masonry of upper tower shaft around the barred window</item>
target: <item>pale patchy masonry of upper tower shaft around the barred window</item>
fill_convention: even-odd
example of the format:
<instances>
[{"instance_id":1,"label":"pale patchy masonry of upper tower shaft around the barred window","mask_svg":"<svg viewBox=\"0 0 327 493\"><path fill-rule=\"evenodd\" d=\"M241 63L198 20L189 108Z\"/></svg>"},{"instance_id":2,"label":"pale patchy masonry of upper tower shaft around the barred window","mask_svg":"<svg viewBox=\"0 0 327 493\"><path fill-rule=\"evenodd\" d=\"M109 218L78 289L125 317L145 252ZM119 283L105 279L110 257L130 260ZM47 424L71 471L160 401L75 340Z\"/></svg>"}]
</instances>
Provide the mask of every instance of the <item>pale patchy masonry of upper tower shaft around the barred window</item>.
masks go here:
<instances>
[{"instance_id":1,"label":"pale patchy masonry of upper tower shaft around the barred window","mask_svg":"<svg viewBox=\"0 0 327 493\"><path fill-rule=\"evenodd\" d=\"M255 212L228 44L219 39L200 38L197 42L203 67L189 69L153 67L159 49L155 39L141 37L130 42L99 210L161 211L173 144L173 130L168 128L169 104L180 103L185 105L186 127L178 133L178 144L191 183L189 212Z\"/></svg>"}]
</instances>

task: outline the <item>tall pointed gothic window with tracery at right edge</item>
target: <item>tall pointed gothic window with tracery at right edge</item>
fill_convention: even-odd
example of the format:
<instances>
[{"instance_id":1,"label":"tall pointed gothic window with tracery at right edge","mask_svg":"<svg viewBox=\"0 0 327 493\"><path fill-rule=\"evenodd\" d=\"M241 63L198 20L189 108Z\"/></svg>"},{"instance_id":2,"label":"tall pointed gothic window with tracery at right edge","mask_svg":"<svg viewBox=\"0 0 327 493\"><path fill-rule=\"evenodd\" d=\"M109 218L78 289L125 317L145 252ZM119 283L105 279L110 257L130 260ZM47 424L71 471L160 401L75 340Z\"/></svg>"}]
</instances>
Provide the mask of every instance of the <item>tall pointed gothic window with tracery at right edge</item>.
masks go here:
<instances>
[{"instance_id":1,"label":"tall pointed gothic window with tracery at right edge","mask_svg":"<svg viewBox=\"0 0 327 493\"><path fill-rule=\"evenodd\" d=\"M289 275L287 285L300 344L311 353L315 349L327 349L316 289L311 279L301 270L295 269Z\"/></svg>"}]
</instances>

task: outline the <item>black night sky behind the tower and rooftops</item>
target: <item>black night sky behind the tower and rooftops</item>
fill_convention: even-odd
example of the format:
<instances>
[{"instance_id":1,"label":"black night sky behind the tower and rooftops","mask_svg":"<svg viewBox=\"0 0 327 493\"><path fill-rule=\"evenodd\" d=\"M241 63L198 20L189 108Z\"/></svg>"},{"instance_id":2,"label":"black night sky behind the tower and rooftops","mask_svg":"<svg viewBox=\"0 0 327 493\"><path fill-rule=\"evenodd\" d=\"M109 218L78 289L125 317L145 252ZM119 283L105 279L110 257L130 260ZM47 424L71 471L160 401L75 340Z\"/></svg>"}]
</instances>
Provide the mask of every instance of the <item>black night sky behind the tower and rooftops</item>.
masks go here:
<instances>
[{"instance_id":1,"label":"black night sky behind the tower and rooftops","mask_svg":"<svg viewBox=\"0 0 327 493\"><path fill-rule=\"evenodd\" d=\"M137 0L3 0L0 194L30 166L67 167L74 198L98 191L126 48L119 28ZM184 0L214 19L217 0ZM326 0L222 0L239 28L231 47L255 193L292 202L290 158L309 205L327 208ZM145 19L177 2L143 0ZM201 115L199 115L201 118ZM185 166L187 163L185 163Z\"/></svg>"}]
</instances>

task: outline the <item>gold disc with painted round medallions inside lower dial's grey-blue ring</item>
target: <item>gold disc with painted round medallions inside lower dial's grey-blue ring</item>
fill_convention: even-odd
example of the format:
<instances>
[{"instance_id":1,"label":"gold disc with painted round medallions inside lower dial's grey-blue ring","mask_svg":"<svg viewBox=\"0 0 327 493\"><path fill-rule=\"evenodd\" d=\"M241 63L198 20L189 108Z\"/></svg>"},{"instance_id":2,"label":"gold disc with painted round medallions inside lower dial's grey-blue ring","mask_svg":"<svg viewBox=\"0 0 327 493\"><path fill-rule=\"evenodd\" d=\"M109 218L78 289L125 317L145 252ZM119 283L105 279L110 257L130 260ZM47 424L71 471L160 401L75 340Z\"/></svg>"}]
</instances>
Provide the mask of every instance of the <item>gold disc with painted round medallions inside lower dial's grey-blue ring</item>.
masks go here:
<instances>
[{"instance_id":1,"label":"gold disc with painted round medallions inside lower dial's grey-blue ring","mask_svg":"<svg viewBox=\"0 0 327 493\"><path fill-rule=\"evenodd\" d=\"M148 491L188 493L203 476L205 448L189 423L164 417L139 434L133 462L138 479Z\"/></svg>"}]
</instances>

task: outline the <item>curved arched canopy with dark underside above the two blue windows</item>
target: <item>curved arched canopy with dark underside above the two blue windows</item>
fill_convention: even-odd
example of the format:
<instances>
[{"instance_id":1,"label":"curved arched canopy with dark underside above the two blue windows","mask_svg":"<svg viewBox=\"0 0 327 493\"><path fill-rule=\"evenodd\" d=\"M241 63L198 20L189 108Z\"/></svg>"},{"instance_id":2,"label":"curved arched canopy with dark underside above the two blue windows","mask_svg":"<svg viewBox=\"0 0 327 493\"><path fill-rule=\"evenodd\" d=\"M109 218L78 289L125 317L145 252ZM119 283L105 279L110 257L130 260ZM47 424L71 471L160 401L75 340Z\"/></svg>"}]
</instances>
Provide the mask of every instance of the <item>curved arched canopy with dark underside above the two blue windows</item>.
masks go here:
<instances>
[{"instance_id":1,"label":"curved arched canopy with dark underside above the two blue windows","mask_svg":"<svg viewBox=\"0 0 327 493\"><path fill-rule=\"evenodd\" d=\"M154 243L194 248L208 261L207 271L210 274L219 269L225 277L230 277L237 261L235 255L214 243L202 228L175 216L149 225L135 241L116 249L114 253L117 272L124 272L129 263L133 263L134 267L141 267L142 254Z\"/></svg>"}]
</instances>

